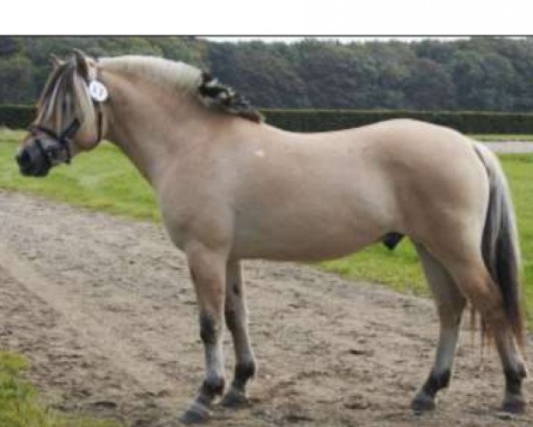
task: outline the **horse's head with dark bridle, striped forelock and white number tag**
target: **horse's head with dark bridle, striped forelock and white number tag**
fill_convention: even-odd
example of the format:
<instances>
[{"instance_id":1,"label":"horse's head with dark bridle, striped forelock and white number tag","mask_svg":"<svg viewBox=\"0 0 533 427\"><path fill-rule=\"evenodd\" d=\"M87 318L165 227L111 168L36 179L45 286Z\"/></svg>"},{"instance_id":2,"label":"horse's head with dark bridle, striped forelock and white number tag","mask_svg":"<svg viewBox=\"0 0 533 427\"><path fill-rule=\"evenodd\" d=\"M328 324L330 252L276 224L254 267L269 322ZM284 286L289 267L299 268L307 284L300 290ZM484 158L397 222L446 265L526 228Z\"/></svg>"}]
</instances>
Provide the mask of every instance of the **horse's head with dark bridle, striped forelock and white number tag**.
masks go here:
<instances>
[{"instance_id":1,"label":"horse's head with dark bridle, striped forelock and white number tag","mask_svg":"<svg viewBox=\"0 0 533 427\"><path fill-rule=\"evenodd\" d=\"M108 94L96 77L96 61L83 52L75 51L68 60L53 58L36 120L16 155L20 173L45 176L52 166L98 145L104 125L100 103Z\"/></svg>"}]
</instances>

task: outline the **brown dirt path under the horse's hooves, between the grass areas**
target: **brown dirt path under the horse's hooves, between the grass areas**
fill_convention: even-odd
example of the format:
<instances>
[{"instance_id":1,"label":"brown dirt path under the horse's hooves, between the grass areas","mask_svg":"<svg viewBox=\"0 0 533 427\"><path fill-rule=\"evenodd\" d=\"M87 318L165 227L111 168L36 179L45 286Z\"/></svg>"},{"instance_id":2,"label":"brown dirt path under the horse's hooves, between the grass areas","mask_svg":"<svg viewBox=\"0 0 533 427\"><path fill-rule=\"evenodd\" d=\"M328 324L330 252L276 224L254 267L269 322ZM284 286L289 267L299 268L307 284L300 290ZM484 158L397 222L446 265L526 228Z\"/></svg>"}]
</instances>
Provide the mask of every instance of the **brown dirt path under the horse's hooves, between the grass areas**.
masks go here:
<instances>
[{"instance_id":1,"label":"brown dirt path under the horse's hooves, between the grass areas","mask_svg":"<svg viewBox=\"0 0 533 427\"><path fill-rule=\"evenodd\" d=\"M56 407L176 425L203 372L182 254L155 225L5 192L0 205L0 348L32 359L29 376ZM533 423L497 415L503 375L494 351L480 369L467 331L438 411L410 414L432 363L432 302L292 263L245 265L254 402L217 410L211 425Z\"/></svg>"}]
</instances>

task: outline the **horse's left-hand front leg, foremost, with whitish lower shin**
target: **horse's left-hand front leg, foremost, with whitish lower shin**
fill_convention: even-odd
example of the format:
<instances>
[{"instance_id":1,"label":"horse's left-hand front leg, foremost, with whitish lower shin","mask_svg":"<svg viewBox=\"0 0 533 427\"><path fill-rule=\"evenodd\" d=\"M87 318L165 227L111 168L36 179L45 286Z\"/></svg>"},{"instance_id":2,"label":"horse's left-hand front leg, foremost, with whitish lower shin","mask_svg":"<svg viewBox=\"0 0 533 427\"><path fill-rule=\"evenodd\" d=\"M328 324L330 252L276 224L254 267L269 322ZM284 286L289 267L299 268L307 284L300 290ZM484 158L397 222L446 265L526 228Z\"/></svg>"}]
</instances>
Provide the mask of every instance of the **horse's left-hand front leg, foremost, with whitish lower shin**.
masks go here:
<instances>
[{"instance_id":1,"label":"horse's left-hand front leg, foremost, with whitish lower shin","mask_svg":"<svg viewBox=\"0 0 533 427\"><path fill-rule=\"evenodd\" d=\"M211 416L214 399L224 391L222 326L226 256L202 245L187 250L190 277L197 293L200 338L206 352L206 378L198 395L182 415L182 423L202 423Z\"/></svg>"}]
</instances>

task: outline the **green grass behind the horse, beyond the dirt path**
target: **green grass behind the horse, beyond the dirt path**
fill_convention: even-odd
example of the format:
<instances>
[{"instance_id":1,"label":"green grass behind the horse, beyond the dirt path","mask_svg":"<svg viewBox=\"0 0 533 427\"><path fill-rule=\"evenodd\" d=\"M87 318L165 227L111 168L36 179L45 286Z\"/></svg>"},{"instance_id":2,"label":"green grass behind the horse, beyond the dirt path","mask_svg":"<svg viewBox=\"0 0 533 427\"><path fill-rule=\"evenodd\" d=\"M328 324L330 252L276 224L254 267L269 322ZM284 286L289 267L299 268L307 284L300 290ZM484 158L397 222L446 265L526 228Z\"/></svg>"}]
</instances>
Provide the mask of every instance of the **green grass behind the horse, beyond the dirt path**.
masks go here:
<instances>
[{"instance_id":1,"label":"green grass behind the horse, beyond the dirt path","mask_svg":"<svg viewBox=\"0 0 533 427\"><path fill-rule=\"evenodd\" d=\"M134 219L159 221L155 197L129 160L110 144L60 166L45 179L20 176L12 160L19 132L0 133L0 188L50 197L55 200L119 214ZM513 191L523 257L526 306L533 326L533 154L504 155L502 159ZM404 239L393 252L372 246L346 258L319 263L319 268L347 278L383 283L413 294L427 294L422 270L413 246Z\"/></svg>"}]
</instances>

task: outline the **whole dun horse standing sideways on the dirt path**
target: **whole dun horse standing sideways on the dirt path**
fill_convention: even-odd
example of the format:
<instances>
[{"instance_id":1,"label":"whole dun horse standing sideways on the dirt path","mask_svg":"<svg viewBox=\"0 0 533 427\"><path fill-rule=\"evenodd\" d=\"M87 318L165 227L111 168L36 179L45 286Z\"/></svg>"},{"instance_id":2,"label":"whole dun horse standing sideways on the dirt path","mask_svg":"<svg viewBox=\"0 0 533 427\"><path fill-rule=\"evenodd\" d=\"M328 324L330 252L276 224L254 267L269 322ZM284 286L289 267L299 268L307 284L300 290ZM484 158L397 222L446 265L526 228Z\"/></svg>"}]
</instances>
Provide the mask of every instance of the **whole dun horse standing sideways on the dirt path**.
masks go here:
<instances>
[{"instance_id":1,"label":"whole dun horse standing sideways on the dirt path","mask_svg":"<svg viewBox=\"0 0 533 427\"><path fill-rule=\"evenodd\" d=\"M392 119L323 133L267 125L244 96L200 68L156 57L54 60L16 154L45 176L102 139L129 157L157 195L186 255L198 301L206 375L183 423L242 407L256 373L241 260L332 259L407 236L440 318L430 375L411 407L448 387L467 302L481 314L505 373L503 410L521 413L520 250L508 184L481 143L440 125ZM225 387L222 333L235 350ZM219 402L220 399L220 402Z\"/></svg>"}]
</instances>

